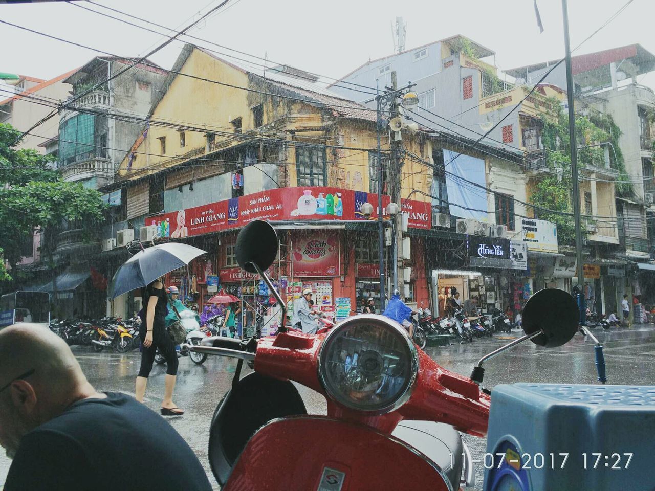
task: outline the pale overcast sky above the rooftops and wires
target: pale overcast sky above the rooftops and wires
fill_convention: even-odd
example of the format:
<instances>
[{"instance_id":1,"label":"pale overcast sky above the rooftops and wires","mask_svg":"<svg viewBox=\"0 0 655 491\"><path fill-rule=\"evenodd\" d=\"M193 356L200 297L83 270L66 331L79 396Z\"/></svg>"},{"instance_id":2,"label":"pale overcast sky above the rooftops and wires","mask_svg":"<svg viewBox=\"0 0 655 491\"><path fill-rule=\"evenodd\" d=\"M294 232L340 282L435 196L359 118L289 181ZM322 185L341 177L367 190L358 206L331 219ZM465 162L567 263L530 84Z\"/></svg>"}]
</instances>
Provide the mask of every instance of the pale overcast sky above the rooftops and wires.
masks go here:
<instances>
[{"instance_id":1,"label":"pale overcast sky above the rooftops and wires","mask_svg":"<svg viewBox=\"0 0 655 491\"><path fill-rule=\"evenodd\" d=\"M572 46L601 26L625 1L569 0ZM118 16L86 1L75 3ZM163 26L181 27L219 1L98 0L98 3ZM495 50L498 67L509 69L563 56L561 2L538 0L538 6L544 33L539 33L536 25L533 0L231 0L190 32L250 54L262 57L266 54L271 63L286 63L320 75L341 77L369 58L391 54L394 49L391 22L396 16L403 16L407 22L406 48L462 34ZM618 18L576 53L631 43L641 43L655 53L654 18L653 0L633 0ZM0 19L121 56L145 54L164 40L161 35L64 2L0 5ZM0 39L0 71L43 79L83 65L96 56L92 50L2 24ZM170 68L180 48L181 43L172 43L152 60ZM637 81L655 88L655 73Z\"/></svg>"}]
</instances>

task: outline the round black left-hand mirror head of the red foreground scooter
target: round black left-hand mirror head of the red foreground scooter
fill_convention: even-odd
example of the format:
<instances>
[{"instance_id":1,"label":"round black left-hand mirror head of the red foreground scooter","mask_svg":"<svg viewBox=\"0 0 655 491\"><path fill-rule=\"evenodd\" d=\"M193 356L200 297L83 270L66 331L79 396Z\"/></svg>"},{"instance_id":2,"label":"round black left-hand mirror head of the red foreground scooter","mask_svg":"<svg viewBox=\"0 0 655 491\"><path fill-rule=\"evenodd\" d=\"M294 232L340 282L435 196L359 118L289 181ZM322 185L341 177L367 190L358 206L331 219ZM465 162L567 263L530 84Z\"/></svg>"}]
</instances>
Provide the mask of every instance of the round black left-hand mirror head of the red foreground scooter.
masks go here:
<instances>
[{"instance_id":1,"label":"round black left-hand mirror head of the red foreground scooter","mask_svg":"<svg viewBox=\"0 0 655 491\"><path fill-rule=\"evenodd\" d=\"M278 255L278 234L268 222L255 220L242 228L236 237L236 262L242 269L257 273L253 263L267 270Z\"/></svg>"}]
</instances>

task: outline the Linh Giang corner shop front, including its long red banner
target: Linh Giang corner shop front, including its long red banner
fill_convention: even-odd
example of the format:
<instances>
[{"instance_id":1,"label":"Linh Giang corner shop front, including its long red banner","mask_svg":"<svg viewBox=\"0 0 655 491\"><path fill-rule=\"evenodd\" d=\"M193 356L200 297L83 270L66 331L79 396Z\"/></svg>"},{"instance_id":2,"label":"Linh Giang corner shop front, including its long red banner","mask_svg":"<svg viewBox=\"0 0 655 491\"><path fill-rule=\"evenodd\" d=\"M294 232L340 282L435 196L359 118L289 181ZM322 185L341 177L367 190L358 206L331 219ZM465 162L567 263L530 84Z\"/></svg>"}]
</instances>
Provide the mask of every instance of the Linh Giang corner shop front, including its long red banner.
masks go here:
<instances>
[{"instance_id":1,"label":"Linh Giang corner shop front, including its long red banner","mask_svg":"<svg viewBox=\"0 0 655 491\"><path fill-rule=\"evenodd\" d=\"M327 207L326 196L331 197ZM383 205L388 202L388 196L384 196ZM236 236L239 228L253 220L270 221L278 231L280 251L269 274L280 286L288 315L293 314L294 302L303 289L309 287L314 293L314 308L328 318L339 319L351 314L368 297L374 297L379 306L378 235L371 223L377 221L377 215L364 215L361 208L365 203L377 209L377 194L329 187L273 189L196 206L183 213L164 213L149 218L148 223L163 230L164 237L179 237L210 252L196 259L188 270L171 272L168 284L188 292L186 296L200 311L213 295L207 289L206 278L217 276L217 290L240 299L242 321L248 326L258 317L274 317L274 300L259 278L242 272L236 263ZM429 202L406 200L403 204L410 229L430 229L428 211ZM407 240L411 255L400 264L403 274L398 278L399 287L407 302L427 306L424 244L421 238ZM385 267L389 268L388 247L384 247L383 254ZM390 277L388 272L385 276ZM279 325L282 319L278 314L278 319L269 321Z\"/></svg>"}]
</instances>

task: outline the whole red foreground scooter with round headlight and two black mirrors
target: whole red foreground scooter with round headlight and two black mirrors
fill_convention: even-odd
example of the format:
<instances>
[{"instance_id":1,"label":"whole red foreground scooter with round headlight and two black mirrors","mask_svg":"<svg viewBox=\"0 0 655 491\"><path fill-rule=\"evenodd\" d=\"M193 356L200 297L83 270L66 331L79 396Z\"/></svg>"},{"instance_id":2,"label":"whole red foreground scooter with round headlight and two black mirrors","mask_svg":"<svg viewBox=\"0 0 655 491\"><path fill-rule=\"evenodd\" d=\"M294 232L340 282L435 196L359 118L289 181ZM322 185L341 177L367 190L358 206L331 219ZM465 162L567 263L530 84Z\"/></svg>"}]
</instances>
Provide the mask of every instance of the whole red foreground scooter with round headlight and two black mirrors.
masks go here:
<instances>
[{"instance_id":1,"label":"whole red foreground scooter with round headlight and two black mirrors","mask_svg":"<svg viewBox=\"0 0 655 491\"><path fill-rule=\"evenodd\" d=\"M258 273L284 310L286 303L264 273L277 251L276 233L263 221L246 225L236 242L240 266ZM529 339L561 346L577 331L574 302L572 320L570 304L552 315L553 292L561 291L544 292L547 298L538 293L524 309L524 326L534 327L483 358L471 378L443 369L400 324L375 314L348 318L317 335L283 327L259 340L214 336L201 346L183 346L238 359L233 386L218 404L210 431L210 464L221 489L471 486L472 459L459 432L487 433L491 398L479 387L483 361ZM255 372L241 378L244 361ZM327 416L307 414L291 380L324 395Z\"/></svg>"}]
</instances>

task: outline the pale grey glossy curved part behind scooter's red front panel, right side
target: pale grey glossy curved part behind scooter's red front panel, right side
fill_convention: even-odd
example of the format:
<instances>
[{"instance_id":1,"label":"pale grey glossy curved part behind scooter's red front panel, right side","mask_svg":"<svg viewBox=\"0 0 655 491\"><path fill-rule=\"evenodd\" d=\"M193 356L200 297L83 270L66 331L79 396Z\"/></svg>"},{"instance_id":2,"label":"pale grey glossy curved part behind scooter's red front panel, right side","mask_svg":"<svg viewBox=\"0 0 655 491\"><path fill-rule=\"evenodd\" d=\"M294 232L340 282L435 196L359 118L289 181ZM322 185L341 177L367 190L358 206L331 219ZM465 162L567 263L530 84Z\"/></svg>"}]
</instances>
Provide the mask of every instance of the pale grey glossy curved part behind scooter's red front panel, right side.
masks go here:
<instances>
[{"instance_id":1,"label":"pale grey glossy curved part behind scooter's red front panel, right side","mask_svg":"<svg viewBox=\"0 0 655 491\"><path fill-rule=\"evenodd\" d=\"M437 464L453 484L453 489L460 487L463 447L459 431L444 423L403 420L392 435Z\"/></svg>"}]
</instances>

